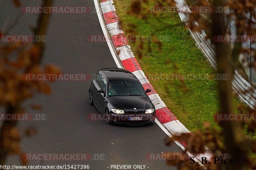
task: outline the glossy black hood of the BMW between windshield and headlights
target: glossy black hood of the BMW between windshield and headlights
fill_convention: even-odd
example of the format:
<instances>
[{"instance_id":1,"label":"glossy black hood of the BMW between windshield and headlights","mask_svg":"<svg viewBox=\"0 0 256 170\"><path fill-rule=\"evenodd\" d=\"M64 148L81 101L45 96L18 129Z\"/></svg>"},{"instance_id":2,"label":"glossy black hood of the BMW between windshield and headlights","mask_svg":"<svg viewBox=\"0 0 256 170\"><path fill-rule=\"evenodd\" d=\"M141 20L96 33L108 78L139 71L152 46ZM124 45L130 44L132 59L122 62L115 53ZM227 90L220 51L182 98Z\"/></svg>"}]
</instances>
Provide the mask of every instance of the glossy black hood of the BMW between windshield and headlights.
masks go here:
<instances>
[{"instance_id":1,"label":"glossy black hood of the BMW between windshield and headlights","mask_svg":"<svg viewBox=\"0 0 256 170\"><path fill-rule=\"evenodd\" d=\"M116 109L146 110L153 107L148 96L108 96L108 102Z\"/></svg>"}]
</instances>

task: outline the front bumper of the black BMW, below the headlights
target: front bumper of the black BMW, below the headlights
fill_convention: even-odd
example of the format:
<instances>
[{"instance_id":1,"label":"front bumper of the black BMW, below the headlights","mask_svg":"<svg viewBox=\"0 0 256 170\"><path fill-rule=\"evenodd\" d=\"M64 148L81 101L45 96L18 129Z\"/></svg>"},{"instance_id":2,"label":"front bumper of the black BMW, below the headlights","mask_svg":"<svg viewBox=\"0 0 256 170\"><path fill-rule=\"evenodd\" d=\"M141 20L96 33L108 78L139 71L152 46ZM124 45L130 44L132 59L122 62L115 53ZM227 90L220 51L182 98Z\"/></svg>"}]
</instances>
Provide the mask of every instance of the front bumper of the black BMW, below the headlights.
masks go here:
<instances>
[{"instance_id":1,"label":"front bumper of the black BMW, below the headlights","mask_svg":"<svg viewBox=\"0 0 256 170\"><path fill-rule=\"evenodd\" d=\"M155 113L153 114L143 114L143 115L121 115L114 114L113 112L109 114L111 122L122 123L127 125L142 125L147 123L154 123L156 119ZM141 117L142 120L131 121L130 117Z\"/></svg>"}]
</instances>

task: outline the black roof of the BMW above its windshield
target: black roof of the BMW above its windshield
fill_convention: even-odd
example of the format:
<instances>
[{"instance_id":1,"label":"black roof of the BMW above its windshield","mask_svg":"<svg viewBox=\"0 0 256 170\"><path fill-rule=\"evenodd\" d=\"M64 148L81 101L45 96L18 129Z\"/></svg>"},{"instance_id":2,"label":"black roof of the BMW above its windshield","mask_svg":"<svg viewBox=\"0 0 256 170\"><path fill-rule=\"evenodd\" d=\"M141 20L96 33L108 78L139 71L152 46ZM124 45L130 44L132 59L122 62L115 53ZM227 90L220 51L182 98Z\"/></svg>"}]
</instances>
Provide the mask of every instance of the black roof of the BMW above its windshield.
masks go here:
<instances>
[{"instance_id":1,"label":"black roof of the BMW above its windshield","mask_svg":"<svg viewBox=\"0 0 256 170\"><path fill-rule=\"evenodd\" d=\"M102 74L105 78L110 81L139 81L134 74L128 70L119 68L104 68L100 69L98 73Z\"/></svg>"}]
</instances>

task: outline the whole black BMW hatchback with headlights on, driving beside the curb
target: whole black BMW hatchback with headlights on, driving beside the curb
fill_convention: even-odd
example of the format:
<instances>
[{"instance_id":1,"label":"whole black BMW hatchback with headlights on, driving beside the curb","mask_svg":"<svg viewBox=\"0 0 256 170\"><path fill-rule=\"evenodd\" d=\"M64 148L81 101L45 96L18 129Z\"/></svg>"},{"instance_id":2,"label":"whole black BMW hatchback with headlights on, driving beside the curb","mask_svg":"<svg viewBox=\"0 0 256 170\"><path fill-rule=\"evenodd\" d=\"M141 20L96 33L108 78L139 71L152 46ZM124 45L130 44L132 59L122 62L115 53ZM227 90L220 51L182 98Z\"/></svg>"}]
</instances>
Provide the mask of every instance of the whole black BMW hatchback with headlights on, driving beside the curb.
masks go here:
<instances>
[{"instance_id":1,"label":"whole black BMW hatchback with headlights on, driving beside the curb","mask_svg":"<svg viewBox=\"0 0 256 170\"><path fill-rule=\"evenodd\" d=\"M156 109L138 78L128 70L100 69L89 89L89 102L105 115L106 122L127 125L153 124Z\"/></svg>"}]
</instances>

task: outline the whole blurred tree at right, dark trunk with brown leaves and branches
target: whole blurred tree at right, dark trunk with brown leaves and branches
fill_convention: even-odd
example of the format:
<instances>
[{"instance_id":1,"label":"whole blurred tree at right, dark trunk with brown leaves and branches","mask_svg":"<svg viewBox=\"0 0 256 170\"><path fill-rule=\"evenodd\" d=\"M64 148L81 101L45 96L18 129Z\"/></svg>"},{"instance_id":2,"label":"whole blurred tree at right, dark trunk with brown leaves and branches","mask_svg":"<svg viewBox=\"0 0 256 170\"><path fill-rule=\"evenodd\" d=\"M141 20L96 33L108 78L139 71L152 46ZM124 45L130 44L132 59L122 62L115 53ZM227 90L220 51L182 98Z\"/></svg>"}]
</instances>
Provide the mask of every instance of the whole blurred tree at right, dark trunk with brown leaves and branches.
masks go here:
<instances>
[{"instance_id":1,"label":"whole blurred tree at right, dark trunk with brown leaves and branches","mask_svg":"<svg viewBox=\"0 0 256 170\"><path fill-rule=\"evenodd\" d=\"M153 0L152 0L153 1ZM151 1L151 2L152 2ZM131 15L135 15L138 18L146 20L149 13L147 9L143 7L143 4L148 4L147 0L133 0L131 4L131 10L128 12ZM164 5L175 6L174 0L155 0L155 9L162 8ZM214 7L214 9L225 9L229 7L231 9L230 14L225 13L225 10L211 11L210 14L205 15L201 12L195 11L189 13L187 27L192 31L201 32L203 29L209 29L210 35L208 35L215 46L215 53L217 59L218 74L228 75L228 80L218 80L218 93L219 93L219 113L220 114L233 114L233 90L232 90L232 78L237 68L238 57L241 53L246 52L252 54L255 57L253 51L243 48L242 41L235 41L234 46L230 46L229 42L217 42L214 37L227 35L227 23L225 17L235 17L236 35L243 36L256 34L256 23L253 19L256 19L256 0L198 0L196 1L196 7ZM146 11L146 12L145 12ZM161 13L161 10L159 10ZM248 13L250 12L250 18L248 19ZM156 18L158 14L153 14ZM229 15L229 16L228 16ZM252 19L253 18L253 19ZM161 20L159 23L161 23ZM199 24L195 25L195 21ZM163 23L162 23L163 24ZM133 29L136 26L133 26ZM170 28L171 26L169 26ZM168 26L165 26L168 29ZM157 28L156 28L157 30ZM131 33L135 31L132 30ZM161 43L161 42L160 42ZM138 49L143 49L143 44L138 45ZM138 50L137 49L137 50ZM151 50L151 49L150 49ZM149 51L150 51L149 50ZM142 55L138 50L139 57ZM250 63L250 66L256 68L256 64ZM245 108L243 105L238 106L238 110L243 113L253 113L255 110ZM252 132L255 134L256 122L252 121L222 121L218 122L221 130L217 131L216 128L211 127L209 122L205 122L205 130L197 130L191 136L187 134L181 134L180 136L174 136L167 140L167 145L170 145L171 141L179 140L188 143L187 150L191 153L204 153L205 148L213 153L228 153L234 160L233 164L205 165L209 169L255 169L255 158L252 158L252 153L256 153L256 140L247 137L244 132ZM167 160L168 165L178 165L178 169L202 169L202 166L191 165L187 160Z\"/></svg>"}]
</instances>

